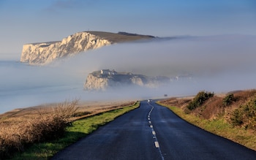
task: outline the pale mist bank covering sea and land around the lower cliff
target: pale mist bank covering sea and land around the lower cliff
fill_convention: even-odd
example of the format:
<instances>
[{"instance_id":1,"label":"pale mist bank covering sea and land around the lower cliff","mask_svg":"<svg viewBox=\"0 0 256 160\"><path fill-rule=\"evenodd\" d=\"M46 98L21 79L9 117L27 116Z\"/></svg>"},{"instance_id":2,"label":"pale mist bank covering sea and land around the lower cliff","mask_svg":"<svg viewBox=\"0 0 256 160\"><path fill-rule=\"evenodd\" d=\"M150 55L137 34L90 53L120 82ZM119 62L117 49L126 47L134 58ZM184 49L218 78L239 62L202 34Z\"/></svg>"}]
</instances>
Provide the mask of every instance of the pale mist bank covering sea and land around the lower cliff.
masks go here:
<instances>
[{"instance_id":1,"label":"pale mist bank covering sea and land around the lower cliff","mask_svg":"<svg viewBox=\"0 0 256 160\"><path fill-rule=\"evenodd\" d=\"M20 107L80 101L189 96L256 88L256 36L178 37L102 47L46 66L0 60L0 114ZM148 76L192 75L159 88L83 91L90 72L115 69Z\"/></svg>"}]
</instances>

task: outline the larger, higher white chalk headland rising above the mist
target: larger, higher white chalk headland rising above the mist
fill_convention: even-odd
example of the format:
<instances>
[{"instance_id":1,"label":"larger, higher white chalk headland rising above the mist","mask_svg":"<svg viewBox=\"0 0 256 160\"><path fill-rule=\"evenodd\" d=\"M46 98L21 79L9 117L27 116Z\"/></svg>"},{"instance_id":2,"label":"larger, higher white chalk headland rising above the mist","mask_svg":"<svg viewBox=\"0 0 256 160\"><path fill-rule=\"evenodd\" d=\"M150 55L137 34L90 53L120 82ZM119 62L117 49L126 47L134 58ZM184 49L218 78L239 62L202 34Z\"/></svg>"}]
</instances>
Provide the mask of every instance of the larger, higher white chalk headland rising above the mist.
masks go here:
<instances>
[{"instance_id":1,"label":"larger, higher white chalk headland rising above the mist","mask_svg":"<svg viewBox=\"0 0 256 160\"><path fill-rule=\"evenodd\" d=\"M116 42L126 42L137 39L148 39L151 36L113 34L101 31L83 31L56 42L31 43L23 45L20 61L29 64L48 64L56 58L72 56L86 50L96 49Z\"/></svg>"}]
</instances>

